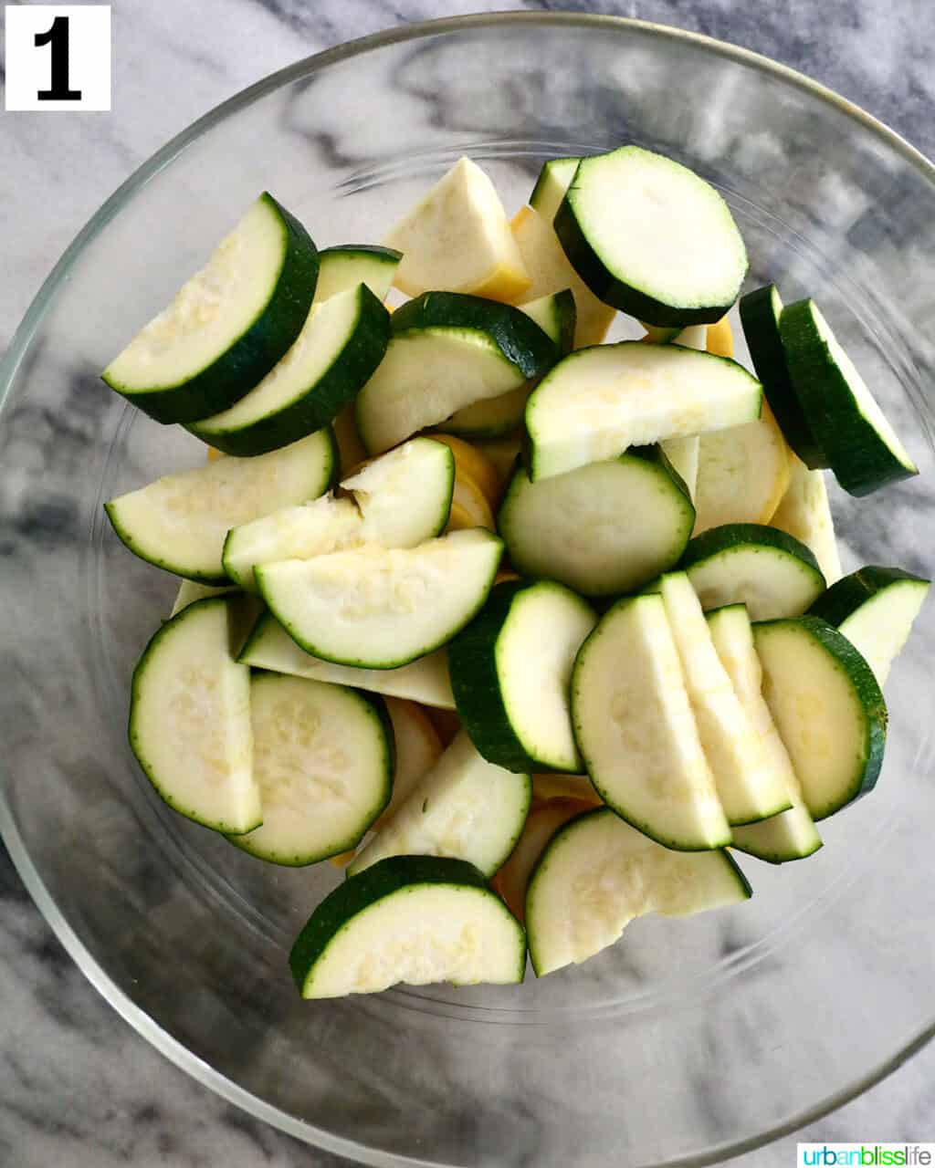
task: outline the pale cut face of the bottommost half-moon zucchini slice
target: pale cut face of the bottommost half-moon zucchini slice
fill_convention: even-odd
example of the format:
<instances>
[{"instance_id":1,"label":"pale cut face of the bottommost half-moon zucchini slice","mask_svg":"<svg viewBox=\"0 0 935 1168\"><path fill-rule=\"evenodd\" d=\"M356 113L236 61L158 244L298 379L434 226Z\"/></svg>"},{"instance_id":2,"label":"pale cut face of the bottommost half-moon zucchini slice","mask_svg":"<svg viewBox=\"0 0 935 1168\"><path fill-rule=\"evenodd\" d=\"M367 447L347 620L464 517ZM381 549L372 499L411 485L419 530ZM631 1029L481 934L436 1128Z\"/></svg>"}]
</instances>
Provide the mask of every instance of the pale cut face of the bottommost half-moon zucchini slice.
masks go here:
<instances>
[{"instance_id":1,"label":"pale cut face of the bottommost half-moon zucchini slice","mask_svg":"<svg viewBox=\"0 0 935 1168\"><path fill-rule=\"evenodd\" d=\"M465 884L414 884L352 917L318 958L304 997L373 994L400 982L522 981L525 938L499 897Z\"/></svg>"}]
</instances>

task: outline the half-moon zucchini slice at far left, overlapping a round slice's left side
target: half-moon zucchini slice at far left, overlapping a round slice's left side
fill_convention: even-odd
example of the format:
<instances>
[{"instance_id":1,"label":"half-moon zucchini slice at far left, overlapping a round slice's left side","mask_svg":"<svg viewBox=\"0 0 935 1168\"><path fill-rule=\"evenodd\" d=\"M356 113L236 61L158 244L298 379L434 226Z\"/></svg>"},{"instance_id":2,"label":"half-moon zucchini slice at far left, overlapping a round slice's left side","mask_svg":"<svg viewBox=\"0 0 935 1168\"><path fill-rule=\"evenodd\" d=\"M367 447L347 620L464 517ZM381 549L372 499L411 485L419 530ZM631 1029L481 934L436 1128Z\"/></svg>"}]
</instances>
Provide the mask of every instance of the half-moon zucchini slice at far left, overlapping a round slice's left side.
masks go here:
<instances>
[{"instance_id":1,"label":"half-moon zucchini slice at far left, overlapping a round slice's left side","mask_svg":"<svg viewBox=\"0 0 935 1168\"><path fill-rule=\"evenodd\" d=\"M231 656L238 598L188 605L133 672L130 745L173 811L216 832L263 821L254 778L250 670Z\"/></svg>"}]
</instances>

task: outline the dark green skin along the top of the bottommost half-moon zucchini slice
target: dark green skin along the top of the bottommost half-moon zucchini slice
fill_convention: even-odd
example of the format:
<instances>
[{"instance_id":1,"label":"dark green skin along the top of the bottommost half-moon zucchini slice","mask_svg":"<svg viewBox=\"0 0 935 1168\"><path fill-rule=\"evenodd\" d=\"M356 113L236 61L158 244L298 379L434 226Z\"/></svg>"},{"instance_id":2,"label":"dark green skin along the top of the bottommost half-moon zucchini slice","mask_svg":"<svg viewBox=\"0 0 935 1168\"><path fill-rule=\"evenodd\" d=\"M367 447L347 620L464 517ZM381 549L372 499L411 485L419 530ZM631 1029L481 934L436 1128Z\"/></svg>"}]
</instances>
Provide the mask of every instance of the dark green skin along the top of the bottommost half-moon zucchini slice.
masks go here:
<instances>
[{"instance_id":1,"label":"dark green skin along the top of the bottommost half-moon zucchini slice","mask_svg":"<svg viewBox=\"0 0 935 1168\"><path fill-rule=\"evenodd\" d=\"M299 990L305 986L309 971L349 920L376 901L420 884L463 884L496 896L487 889L483 872L465 860L441 856L389 856L381 860L330 892L296 938L289 965ZM506 905L504 912L508 912ZM520 929L519 923L517 929Z\"/></svg>"}]
</instances>

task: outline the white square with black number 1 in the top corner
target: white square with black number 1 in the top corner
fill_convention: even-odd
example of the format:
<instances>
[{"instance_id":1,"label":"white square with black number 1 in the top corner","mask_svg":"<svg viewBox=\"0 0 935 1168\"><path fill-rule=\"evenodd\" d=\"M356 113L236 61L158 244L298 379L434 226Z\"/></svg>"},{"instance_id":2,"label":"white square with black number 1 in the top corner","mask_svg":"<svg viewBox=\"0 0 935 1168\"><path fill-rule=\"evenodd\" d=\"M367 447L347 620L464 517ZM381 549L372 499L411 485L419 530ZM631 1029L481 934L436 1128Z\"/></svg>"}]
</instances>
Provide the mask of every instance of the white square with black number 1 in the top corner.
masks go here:
<instances>
[{"instance_id":1,"label":"white square with black number 1 in the top corner","mask_svg":"<svg viewBox=\"0 0 935 1168\"><path fill-rule=\"evenodd\" d=\"M5 109L110 109L110 5L7 5L5 15Z\"/></svg>"}]
</instances>

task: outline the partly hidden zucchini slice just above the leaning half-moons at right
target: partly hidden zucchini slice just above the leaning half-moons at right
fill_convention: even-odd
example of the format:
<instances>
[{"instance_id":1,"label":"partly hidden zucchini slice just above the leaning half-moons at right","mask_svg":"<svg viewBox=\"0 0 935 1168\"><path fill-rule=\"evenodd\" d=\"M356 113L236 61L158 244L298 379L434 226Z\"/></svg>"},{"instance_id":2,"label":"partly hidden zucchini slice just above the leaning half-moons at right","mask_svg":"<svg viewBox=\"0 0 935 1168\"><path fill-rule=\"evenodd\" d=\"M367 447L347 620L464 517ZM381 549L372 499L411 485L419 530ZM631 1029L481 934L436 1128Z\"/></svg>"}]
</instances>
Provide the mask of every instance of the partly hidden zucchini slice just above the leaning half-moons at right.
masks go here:
<instances>
[{"instance_id":1,"label":"partly hidden zucchini slice just above the leaning half-moons at right","mask_svg":"<svg viewBox=\"0 0 935 1168\"><path fill-rule=\"evenodd\" d=\"M746 604L750 620L798 617L825 590L804 543L761 523L728 523L697 535L680 566L706 612Z\"/></svg>"}]
</instances>

